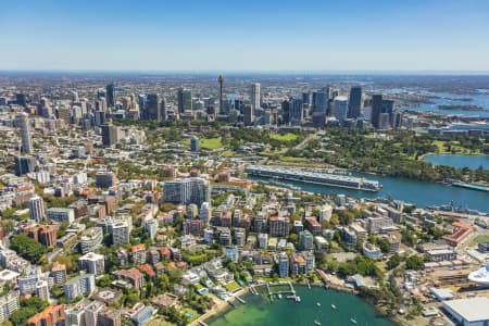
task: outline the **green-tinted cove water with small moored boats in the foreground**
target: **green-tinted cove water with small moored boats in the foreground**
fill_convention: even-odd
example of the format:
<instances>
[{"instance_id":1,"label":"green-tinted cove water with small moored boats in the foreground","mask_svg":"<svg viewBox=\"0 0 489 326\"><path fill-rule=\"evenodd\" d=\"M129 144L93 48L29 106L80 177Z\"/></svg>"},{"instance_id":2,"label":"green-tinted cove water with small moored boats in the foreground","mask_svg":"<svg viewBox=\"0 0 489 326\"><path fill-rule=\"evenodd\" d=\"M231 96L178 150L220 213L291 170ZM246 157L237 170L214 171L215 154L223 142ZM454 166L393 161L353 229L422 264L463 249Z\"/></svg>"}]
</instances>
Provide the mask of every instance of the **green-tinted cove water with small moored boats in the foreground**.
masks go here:
<instances>
[{"instance_id":1,"label":"green-tinted cove water with small moored boats in the foreground","mask_svg":"<svg viewBox=\"0 0 489 326\"><path fill-rule=\"evenodd\" d=\"M354 325L353 318L356 325L362 326L394 325L356 296L317 287L308 289L298 286L296 291L301 297L300 303L285 297L275 297L271 301L264 289L260 289L260 296L249 293L243 297L247 304L237 303L237 308L227 308L205 323L210 326L310 326L316 321L321 325L348 326Z\"/></svg>"}]
</instances>

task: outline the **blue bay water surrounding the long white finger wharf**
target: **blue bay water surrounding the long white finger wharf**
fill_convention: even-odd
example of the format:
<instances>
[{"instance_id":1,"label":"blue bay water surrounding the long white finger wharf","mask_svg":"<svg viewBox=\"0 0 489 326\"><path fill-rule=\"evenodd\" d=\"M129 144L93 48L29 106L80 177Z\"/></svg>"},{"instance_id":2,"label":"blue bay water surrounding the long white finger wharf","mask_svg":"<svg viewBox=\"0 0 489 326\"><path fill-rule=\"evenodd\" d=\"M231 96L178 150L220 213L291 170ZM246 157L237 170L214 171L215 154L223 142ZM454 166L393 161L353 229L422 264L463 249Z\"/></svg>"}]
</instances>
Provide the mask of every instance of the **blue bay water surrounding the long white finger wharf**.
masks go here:
<instances>
[{"instance_id":1,"label":"blue bay water surrounding the long white finger wharf","mask_svg":"<svg viewBox=\"0 0 489 326\"><path fill-rule=\"evenodd\" d=\"M418 208L425 208L429 205L446 205L450 204L453 201L453 204L455 206L463 206L489 213L488 192L475 191L436 183L418 181L406 178L397 178L397 177L377 176L358 173L354 173L353 175L377 180L383 185L383 188L379 191L372 192L372 191L344 189L289 180L287 180L286 183L300 187L304 191L316 193L327 193L327 195L344 193L353 198L390 197L393 199L403 200L404 202L408 203L413 203ZM266 180L266 178L260 178L254 176L249 176L249 179Z\"/></svg>"}]
</instances>

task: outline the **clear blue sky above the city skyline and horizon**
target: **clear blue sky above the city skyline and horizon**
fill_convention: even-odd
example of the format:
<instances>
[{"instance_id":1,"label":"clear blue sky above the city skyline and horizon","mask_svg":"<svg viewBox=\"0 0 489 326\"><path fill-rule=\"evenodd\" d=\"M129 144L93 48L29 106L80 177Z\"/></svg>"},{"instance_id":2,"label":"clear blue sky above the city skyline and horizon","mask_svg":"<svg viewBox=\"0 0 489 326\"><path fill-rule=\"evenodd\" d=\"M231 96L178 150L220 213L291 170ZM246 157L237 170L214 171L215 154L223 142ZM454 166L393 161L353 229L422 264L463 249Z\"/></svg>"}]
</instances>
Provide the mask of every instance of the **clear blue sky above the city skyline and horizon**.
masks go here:
<instances>
[{"instance_id":1,"label":"clear blue sky above the city skyline and horizon","mask_svg":"<svg viewBox=\"0 0 489 326\"><path fill-rule=\"evenodd\" d=\"M2 0L0 70L489 71L487 0Z\"/></svg>"}]
</instances>

